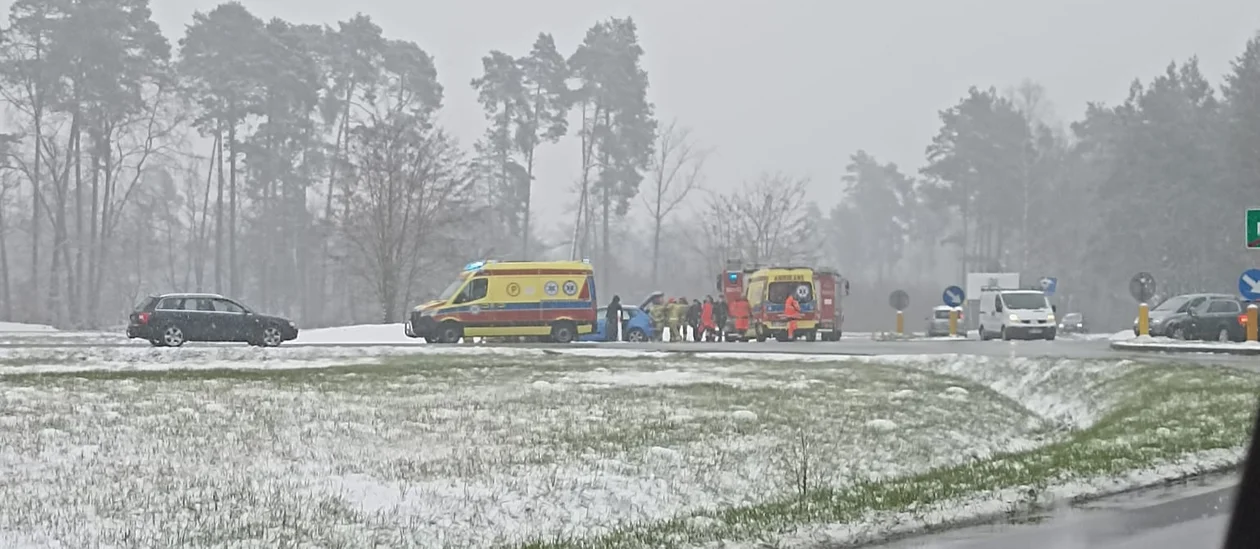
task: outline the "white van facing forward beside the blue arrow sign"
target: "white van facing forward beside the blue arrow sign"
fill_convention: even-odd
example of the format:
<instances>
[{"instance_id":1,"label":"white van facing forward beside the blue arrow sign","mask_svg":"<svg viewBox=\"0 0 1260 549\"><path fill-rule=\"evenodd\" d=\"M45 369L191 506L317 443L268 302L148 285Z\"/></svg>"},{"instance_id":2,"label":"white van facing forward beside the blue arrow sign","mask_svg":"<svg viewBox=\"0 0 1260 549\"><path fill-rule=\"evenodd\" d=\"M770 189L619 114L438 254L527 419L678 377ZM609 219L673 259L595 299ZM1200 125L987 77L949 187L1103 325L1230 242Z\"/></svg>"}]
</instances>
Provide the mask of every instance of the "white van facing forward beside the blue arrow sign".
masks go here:
<instances>
[{"instance_id":1,"label":"white van facing forward beside the blue arrow sign","mask_svg":"<svg viewBox=\"0 0 1260 549\"><path fill-rule=\"evenodd\" d=\"M1037 290L980 291L980 340L1055 339L1055 307Z\"/></svg>"}]
</instances>

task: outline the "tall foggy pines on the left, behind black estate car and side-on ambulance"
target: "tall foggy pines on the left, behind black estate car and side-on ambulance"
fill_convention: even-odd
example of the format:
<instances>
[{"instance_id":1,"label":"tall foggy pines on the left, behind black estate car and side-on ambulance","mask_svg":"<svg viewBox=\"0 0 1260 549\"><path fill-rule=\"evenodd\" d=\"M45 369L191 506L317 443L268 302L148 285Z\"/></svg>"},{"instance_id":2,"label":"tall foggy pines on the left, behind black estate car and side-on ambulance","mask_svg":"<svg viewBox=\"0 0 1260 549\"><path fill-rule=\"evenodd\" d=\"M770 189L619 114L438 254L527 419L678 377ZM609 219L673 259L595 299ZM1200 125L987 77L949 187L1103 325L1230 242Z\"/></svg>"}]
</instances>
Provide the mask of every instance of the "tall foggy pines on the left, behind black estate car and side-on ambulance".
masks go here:
<instances>
[{"instance_id":1,"label":"tall foggy pines on the left, behind black estate car and side-on ambulance","mask_svg":"<svg viewBox=\"0 0 1260 549\"><path fill-rule=\"evenodd\" d=\"M16 0L0 316L117 325L144 295L213 291L306 326L398 321L475 258L614 273L640 204L655 262L707 151L658 126L643 55L617 18L567 53L548 34L490 52L469 83L488 128L465 149L437 122L432 57L368 15L302 25L229 1L170 43L147 0ZM564 137L582 164L551 235L530 215L534 166Z\"/></svg>"}]
</instances>

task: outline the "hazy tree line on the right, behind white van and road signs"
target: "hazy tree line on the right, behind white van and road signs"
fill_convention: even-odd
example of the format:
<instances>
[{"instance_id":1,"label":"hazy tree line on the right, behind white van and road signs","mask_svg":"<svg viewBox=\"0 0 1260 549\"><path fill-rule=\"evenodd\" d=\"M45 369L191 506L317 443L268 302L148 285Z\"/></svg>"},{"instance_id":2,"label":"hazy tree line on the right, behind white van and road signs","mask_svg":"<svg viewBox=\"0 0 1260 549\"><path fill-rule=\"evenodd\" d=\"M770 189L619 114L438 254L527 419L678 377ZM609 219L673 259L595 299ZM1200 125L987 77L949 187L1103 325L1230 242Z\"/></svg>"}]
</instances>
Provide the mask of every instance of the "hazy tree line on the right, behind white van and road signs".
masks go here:
<instances>
[{"instance_id":1,"label":"hazy tree line on the right, behind white van and road signs","mask_svg":"<svg viewBox=\"0 0 1260 549\"><path fill-rule=\"evenodd\" d=\"M1056 276L1070 308L1121 327L1139 271L1163 296L1236 292L1256 259L1244 210L1260 207L1260 35L1220 86L1192 57L1066 127L1046 105L1033 82L970 88L940 112L917 174L853 154L828 256L872 286L920 285L930 305L965 272Z\"/></svg>"}]
</instances>

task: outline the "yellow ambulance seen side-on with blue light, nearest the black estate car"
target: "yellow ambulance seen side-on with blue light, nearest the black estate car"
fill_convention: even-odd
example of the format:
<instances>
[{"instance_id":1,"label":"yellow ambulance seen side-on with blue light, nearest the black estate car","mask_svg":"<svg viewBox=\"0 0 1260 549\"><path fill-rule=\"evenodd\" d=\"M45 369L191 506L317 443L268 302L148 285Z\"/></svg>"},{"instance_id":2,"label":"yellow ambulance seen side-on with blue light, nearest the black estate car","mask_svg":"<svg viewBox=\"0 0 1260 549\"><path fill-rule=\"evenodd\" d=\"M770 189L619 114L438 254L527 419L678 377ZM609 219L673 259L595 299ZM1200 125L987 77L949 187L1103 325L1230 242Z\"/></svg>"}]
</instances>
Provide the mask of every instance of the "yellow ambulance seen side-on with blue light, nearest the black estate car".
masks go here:
<instances>
[{"instance_id":1,"label":"yellow ambulance seen side-on with blue light, nearest the black estate car","mask_svg":"<svg viewBox=\"0 0 1260 549\"><path fill-rule=\"evenodd\" d=\"M587 262L469 263L436 300L412 308L404 332L427 342L539 337L571 342L595 331L595 269Z\"/></svg>"}]
</instances>

